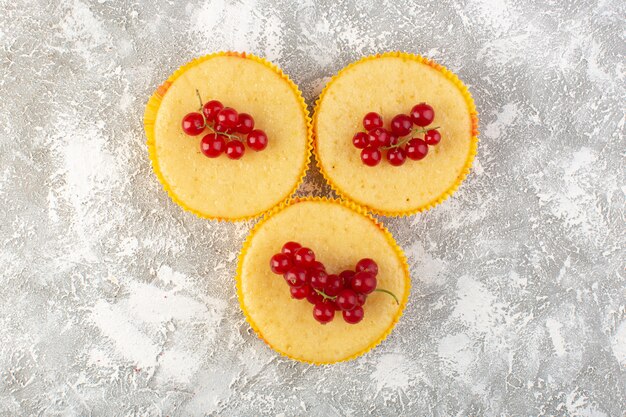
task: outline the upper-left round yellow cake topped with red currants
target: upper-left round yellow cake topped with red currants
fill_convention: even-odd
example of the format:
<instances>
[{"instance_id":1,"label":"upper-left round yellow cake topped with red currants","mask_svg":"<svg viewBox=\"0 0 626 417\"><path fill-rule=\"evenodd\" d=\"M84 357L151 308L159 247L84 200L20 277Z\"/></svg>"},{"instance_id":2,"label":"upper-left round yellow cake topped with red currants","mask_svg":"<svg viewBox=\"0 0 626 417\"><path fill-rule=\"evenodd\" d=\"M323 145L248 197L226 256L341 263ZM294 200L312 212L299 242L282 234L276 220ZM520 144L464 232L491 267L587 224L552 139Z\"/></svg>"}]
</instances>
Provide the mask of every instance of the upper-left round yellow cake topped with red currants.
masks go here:
<instances>
[{"instance_id":1,"label":"upper-left round yellow cake topped with red currants","mask_svg":"<svg viewBox=\"0 0 626 417\"><path fill-rule=\"evenodd\" d=\"M242 113L253 120L263 141L258 135L251 140L253 134L246 139L234 125L210 125L209 117L217 123L220 115L204 111L217 101L236 109L239 123ZM188 124L191 133L185 130L192 112L200 122L206 115L206 128L194 131L197 126ZM224 112L224 126L232 113ZM280 69L244 53L207 55L174 72L150 98L144 125L165 190L184 209L206 218L248 219L286 200L302 181L310 154L311 123L300 91Z\"/></svg>"}]
</instances>

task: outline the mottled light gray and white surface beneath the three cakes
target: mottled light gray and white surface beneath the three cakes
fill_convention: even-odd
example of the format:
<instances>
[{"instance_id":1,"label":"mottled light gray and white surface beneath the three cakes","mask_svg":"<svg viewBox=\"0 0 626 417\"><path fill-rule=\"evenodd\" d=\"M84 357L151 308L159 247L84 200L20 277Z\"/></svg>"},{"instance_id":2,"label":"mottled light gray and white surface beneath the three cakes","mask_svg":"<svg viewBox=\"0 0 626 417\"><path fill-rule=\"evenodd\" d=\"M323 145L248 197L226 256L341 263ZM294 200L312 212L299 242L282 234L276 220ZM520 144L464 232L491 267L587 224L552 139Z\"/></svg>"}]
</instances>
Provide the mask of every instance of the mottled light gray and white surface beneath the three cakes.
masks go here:
<instances>
[{"instance_id":1,"label":"mottled light gray and white surface beneath the three cakes","mask_svg":"<svg viewBox=\"0 0 626 417\"><path fill-rule=\"evenodd\" d=\"M0 415L625 414L624 2L153 3L0 0ZM257 339L233 283L253 222L185 213L151 171L148 96L222 49L309 104L398 49L474 95L460 191L382 219L413 291L358 360Z\"/></svg>"}]
</instances>

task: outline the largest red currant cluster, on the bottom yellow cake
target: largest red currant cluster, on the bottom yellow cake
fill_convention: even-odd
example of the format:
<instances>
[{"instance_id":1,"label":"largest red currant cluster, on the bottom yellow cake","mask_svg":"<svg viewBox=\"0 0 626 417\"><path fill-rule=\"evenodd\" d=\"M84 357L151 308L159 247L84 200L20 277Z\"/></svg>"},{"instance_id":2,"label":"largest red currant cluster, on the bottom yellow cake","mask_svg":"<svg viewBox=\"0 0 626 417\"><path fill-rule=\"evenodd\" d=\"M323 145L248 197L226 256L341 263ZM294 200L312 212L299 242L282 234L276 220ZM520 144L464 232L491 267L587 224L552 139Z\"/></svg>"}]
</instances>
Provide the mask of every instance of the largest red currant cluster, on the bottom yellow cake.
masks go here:
<instances>
[{"instance_id":1,"label":"largest red currant cluster, on the bottom yellow cake","mask_svg":"<svg viewBox=\"0 0 626 417\"><path fill-rule=\"evenodd\" d=\"M378 265L369 258L357 262L354 271L328 274L311 249L287 242L270 259L270 268L285 278L293 298L313 304L313 317L322 324L331 322L335 311L341 311L346 323L357 324L363 320L368 294L374 291L387 293L399 303L393 293L376 288Z\"/></svg>"}]
</instances>

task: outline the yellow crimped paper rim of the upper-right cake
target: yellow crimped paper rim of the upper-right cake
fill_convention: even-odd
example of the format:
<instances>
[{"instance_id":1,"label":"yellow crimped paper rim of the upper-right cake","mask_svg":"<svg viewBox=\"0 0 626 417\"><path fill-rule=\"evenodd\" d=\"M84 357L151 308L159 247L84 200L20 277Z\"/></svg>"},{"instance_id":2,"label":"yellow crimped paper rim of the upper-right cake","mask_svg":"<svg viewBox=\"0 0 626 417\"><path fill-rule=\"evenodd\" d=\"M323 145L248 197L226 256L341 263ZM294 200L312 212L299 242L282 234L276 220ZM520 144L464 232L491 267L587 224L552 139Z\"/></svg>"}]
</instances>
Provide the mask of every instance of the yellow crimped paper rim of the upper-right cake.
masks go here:
<instances>
[{"instance_id":1,"label":"yellow crimped paper rim of the upper-right cake","mask_svg":"<svg viewBox=\"0 0 626 417\"><path fill-rule=\"evenodd\" d=\"M319 153L318 153L318 150L317 150L317 139L318 139L318 136L317 136L318 135L318 133L317 133L317 117L318 117L319 109L320 109L320 106L321 106L322 101L324 99L324 96L328 92L328 89L330 88L330 86L339 77L341 77L341 75L343 73L345 73L350 68L352 68L352 67L354 67L356 65L359 65L359 64L361 64L363 62L366 62L366 61L371 61L371 60L375 60L375 59L378 59L378 58L386 58L386 57L396 57L396 58L411 59L411 60L419 62L421 64L428 65L431 68L439 71L441 74L443 74L443 76L446 79L451 81L461 91L461 94L463 95L463 98L465 100L467 108L468 108L468 110L470 112L470 119L471 119L471 126L470 126L470 129L471 129L471 132L470 132L471 133L470 151L469 151L469 153L467 155L467 159L465 161L465 165L463 166L463 168L461 169L461 172L457 176L456 181L450 187L448 187L448 189L446 189L438 197L434 198L433 200L431 200L431 201L429 201L429 202L427 202L425 204L422 204L422 205L420 205L418 207L415 207L415 208L412 208L412 209L408 209L408 210L383 210L383 209L379 209L379 208L376 208L376 207L372 207L371 205L366 204L366 203L364 203L362 201L359 201L358 199L352 197L349 193L347 193L345 190L343 190L341 187L339 187L330 178L330 176L328 175L328 172L324 168L324 165L323 165L323 163L321 161L321 158L319 157ZM363 58L359 59L358 61L352 62L348 66L342 68L337 74L335 74L330 79L330 81L328 81L328 83L326 84L326 86L322 90L320 96L315 101L315 108L313 110L313 152L315 154L316 165L319 168L320 172L322 173L322 176L328 182L330 187L337 193L337 195L339 195L340 197L342 197L344 199L347 199L347 200L355 202L356 204L366 208L367 210L371 211L374 214L379 214L379 215L382 215L382 216L399 217L399 216L410 216L410 215L413 215L413 214L421 213L421 212L423 212L425 210L429 210L429 209L437 206L438 204L440 204L444 200L446 200L448 197L450 197L452 194L454 194L454 192L459 188L461 183L465 180L465 178L469 174L470 169L472 167L472 164L474 162L474 157L476 156L476 153L478 152L478 133L479 133L478 132L478 112L476 111L476 105L474 104L474 99L472 98L472 96L471 96L467 86L465 84L463 84L463 82L459 79L459 77L456 74L454 74L452 71L448 70L443 65L440 65L440 64L436 63L433 60L430 60L428 58L424 58L421 55L411 54L411 53L401 52L401 51L391 51L391 52L385 52L385 53L381 53L381 54L366 56L366 57L363 57Z\"/></svg>"}]
</instances>

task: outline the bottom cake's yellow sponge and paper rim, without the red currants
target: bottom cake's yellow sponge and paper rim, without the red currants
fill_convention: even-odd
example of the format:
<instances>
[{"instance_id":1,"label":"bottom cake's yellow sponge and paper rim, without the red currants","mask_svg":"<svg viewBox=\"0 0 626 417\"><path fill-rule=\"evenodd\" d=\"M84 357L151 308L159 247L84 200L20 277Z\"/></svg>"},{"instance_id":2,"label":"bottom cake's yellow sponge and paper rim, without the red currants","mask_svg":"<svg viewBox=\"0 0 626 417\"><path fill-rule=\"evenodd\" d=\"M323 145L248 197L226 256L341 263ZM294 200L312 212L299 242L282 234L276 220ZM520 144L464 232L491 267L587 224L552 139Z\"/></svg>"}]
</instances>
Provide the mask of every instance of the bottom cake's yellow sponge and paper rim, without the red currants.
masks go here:
<instances>
[{"instance_id":1,"label":"bottom cake's yellow sponge and paper rim, without the red currants","mask_svg":"<svg viewBox=\"0 0 626 417\"><path fill-rule=\"evenodd\" d=\"M364 258L375 261L377 290L362 304L358 323L348 323L337 311L321 324L307 299L292 297L288 274L283 278L270 267L286 242L314 251L328 274L355 265L358 271ZM349 360L379 344L400 318L409 287L404 254L382 225L354 204L318 198L292 201L264 217L244 244L237 274L241 308L259 337L289 358L314 364Z\"/></svg>"}]
</instances>

